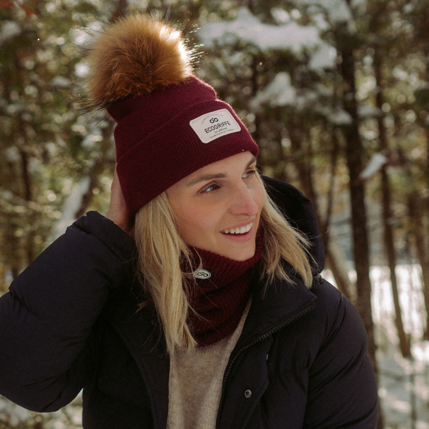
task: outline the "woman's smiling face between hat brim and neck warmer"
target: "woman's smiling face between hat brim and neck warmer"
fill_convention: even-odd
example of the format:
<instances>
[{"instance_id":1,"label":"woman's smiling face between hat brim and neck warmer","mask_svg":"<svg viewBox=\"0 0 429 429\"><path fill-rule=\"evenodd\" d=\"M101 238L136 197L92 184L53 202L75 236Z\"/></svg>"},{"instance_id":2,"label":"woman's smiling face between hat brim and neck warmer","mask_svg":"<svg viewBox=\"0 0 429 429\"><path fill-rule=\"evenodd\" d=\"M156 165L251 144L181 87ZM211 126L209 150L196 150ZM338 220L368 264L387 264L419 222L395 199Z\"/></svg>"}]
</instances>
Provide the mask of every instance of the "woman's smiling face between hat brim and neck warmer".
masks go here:
<instances>
[{"instance_id":1,"label":"woman's smiling face between hat brim and neck warmer","mask_svg":"<svg viewBox=\"0 0 429 429\"><path fill-rule=\"evenodd\" d=\"M245 261L255 254L255 237L265 200L255 175L256 158L242 152L196 170L167 189L188 246Z\"/></svg>"}]
</instances>

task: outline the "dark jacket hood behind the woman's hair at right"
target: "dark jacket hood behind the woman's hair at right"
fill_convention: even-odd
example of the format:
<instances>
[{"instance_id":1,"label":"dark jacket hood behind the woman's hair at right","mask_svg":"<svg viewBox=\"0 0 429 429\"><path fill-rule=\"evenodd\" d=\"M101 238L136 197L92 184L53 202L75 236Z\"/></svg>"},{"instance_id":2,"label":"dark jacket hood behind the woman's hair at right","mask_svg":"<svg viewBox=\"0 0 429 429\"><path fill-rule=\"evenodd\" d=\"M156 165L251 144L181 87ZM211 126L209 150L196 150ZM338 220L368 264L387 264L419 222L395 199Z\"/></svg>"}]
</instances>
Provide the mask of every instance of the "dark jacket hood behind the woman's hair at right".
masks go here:
<instances>
[{"instance_id":1,"label":"dark jacket hood behind the woman's hair at right","mask_svg":"<svg viewBox=\"0 0 429 429\"><path fill-rule=\"evenodd\" d=\"M315 264L311 264L313 276L319 274L325 265L325 252L322 237L317 225L311 201L295 188L295 186L281 180L262 176L266 190L285 218L298 231L305 234L311 243L309 249Z\"/></svg>"}]
</instances>

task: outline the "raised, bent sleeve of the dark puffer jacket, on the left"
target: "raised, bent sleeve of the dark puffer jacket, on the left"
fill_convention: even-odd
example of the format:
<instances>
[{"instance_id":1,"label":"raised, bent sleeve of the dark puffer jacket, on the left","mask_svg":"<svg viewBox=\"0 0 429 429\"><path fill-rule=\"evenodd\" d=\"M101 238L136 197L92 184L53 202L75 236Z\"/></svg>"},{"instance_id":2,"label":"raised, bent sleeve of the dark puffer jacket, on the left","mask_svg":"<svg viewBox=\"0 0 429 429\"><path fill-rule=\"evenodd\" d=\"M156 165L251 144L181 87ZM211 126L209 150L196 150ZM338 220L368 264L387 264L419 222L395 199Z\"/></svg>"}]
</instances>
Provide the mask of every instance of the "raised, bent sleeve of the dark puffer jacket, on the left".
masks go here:
<instances>
[{"instance_id":1,"label":"raised, bent sleeve of the dark puffer jacket, on the left","mask_svg":"<svg viewBox=\"0 0 429 429\"><path fill-rule=\"evenodd\" d=\"M0 298L0 394L33 411L76 397L94 370L94 325L133 251L121 228L89 212L12 282Z\"/></svg>"}]
</instances>

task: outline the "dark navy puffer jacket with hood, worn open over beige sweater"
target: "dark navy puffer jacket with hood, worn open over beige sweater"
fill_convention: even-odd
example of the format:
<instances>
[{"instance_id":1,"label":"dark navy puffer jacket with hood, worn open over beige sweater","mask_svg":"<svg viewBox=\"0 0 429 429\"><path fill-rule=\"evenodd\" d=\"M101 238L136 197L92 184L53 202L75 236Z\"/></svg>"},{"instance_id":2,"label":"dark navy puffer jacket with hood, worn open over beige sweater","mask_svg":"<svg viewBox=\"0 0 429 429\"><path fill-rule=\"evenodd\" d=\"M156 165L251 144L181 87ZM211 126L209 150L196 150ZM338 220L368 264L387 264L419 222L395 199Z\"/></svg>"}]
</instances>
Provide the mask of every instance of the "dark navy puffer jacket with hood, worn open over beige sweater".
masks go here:
<instances>
[{"instance_id":1,"label":"dark navy puffer jacket with hood, worn open over beige sweater","mask_svg":"<svg viewBox=\"0 0 429 429\"><path fill-rule=\"evenodd\" d=\"M350 302L318 275L323 249L311 203L265 178L311 237L314 286L254 280L224 374L221 429L372 429L377 388ZM136 312L133 240L96 212L82 216L0 298L0 394L55 411L83 388L85 429L165 428L169 359L152 307ZM250 390L245 395L245 392Z\"/></svg>"}]
</instances>

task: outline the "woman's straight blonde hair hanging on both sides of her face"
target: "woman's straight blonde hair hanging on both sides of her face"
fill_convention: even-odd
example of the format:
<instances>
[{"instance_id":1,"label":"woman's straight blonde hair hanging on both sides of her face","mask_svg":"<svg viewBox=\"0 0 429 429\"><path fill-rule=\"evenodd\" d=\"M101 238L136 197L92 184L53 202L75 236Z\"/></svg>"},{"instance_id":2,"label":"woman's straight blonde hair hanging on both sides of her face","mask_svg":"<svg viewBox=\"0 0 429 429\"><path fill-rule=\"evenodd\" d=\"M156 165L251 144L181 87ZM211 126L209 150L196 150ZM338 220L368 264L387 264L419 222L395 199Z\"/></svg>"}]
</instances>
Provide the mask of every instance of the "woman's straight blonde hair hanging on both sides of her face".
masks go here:
<instances>
[{"instance_id":1,"label":"woman's straight blonde hair hanging on both sides of her face","mask_svg":"<svg viewBox=\"0 0 429 429\"><path fill-rule=\"evenodd\" d=\"M262 183L260 176L257 177ZM263 246L258 262L260 279L265 281L264 290L275 278L292 283L284 269L284 261L310 287L312 275L309 259L312 258L307 251L308 240L287 222L266 193L265 186L264 192L265 202L260 216ZM178 222L165 192L136 214L134 236L138 250L137 275L146 296L157 309L167 351L174 354L176 347L192 349L196 341L187 320L188 313L193 309L186 292L194 285L194 280L192 273L181 269L191 266L191 254L178 234ZM140 307L147 302L143 302Z\"/></svg>"}]
</instances>

